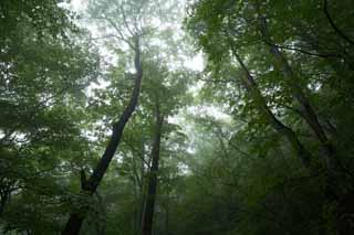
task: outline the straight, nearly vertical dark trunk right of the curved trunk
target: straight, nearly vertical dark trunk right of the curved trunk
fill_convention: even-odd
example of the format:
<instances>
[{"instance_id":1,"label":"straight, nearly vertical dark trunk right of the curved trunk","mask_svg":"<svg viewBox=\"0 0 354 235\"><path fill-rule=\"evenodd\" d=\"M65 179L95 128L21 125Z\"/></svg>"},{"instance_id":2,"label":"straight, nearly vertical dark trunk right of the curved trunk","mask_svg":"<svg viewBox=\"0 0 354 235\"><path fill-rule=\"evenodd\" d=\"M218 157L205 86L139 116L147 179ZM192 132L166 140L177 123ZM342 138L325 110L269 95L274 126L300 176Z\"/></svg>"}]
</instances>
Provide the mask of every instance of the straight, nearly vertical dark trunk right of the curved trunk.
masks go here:
<instances>
[{"instance_id":1,"label":"straight, nearly vertical dark trunk right of the curved trunk","mask_svg":"<svg viewBox=\"0 0 354 235\"><path fill-rule=\"evenodd\" d=\"M157 173L158 173L158 160L162 139L164 117L160 114L158 104L156 105L156 132L152 149L152 168L149 171L149 181L147 186L147 196L145 199L145 206L142 216L142 235L152 235L154 211L156 201L156 188L157 188Z\"/></svg>"}]
</instances>

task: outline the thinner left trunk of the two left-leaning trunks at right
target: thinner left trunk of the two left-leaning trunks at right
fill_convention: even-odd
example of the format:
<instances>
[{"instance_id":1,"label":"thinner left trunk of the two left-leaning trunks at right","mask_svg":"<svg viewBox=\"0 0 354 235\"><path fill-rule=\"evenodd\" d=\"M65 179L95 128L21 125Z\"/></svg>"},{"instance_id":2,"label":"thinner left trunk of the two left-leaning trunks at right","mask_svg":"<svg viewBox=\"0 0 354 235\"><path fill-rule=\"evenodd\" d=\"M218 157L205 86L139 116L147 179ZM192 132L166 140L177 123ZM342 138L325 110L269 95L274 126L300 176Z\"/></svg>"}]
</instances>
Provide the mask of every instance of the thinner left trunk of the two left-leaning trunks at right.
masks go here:
<instances>
[{"instance_id":1,"label":"thinner left trunk of the two left-leaning trunks at right","mask_svg":"<svg viewBox=\"0 0 354 235\"><path fill-rule=\"evenodd\" d=\"M242 77L242 82L246 86L246 88L251 94L254 103L258 105L259 110L261 114L267 118L268 124L273 127L274 130L277 130L281 136L285 137L289 143L291 145L292 149L296 153L298 158L302 162L305 169L309 170L309 172L312 171L310 165L311 160L311 153L304 148L304 146L300 142L296 133L288 126L282 124L271 111L271 109L268 107L267 102L264 97L262 96L261 92L259 90L259 87L253 78L253 76L250 74L249 70L244 65L243 61L237 53L237 50L233 45L233 43L229 42L231 46L231 51L238 63L240 64L241 68L244 72L244 77Z\"/></svg>"}]
</instances>

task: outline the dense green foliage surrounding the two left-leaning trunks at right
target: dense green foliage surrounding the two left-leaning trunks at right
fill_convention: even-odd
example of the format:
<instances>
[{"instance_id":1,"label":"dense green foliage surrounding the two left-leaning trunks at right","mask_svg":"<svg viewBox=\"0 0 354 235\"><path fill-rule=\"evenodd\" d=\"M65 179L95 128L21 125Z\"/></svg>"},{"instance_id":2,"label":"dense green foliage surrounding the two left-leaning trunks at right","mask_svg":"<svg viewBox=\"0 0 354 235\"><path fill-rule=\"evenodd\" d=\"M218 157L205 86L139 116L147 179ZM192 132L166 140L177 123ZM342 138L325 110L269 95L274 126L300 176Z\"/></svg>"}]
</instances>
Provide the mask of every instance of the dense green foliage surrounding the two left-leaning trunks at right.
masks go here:
<instances>
[{"instance_id":1,"label":"dense green foliage surrounding the two left-leaning trunks at right","mask_svg":"<svg viewBox=\"0 0 354 235\"><path fill-rule=\"evenodd\" d=\"M291 85L281 71L274 67L274 61L269 53L269 42L260 33L259 17L266 15L273 42L298 74L299 85L306 90L321 125L335 142L337 158L344 168L352 172L350 159L353 150L348 145L353 138L344 129L352 126L346 121L348 116L352 117L353 109L352 93L348 92L353 82L348 79L354 75L351 58L354 47L332 28L323 4L323 1L315 0L201 0L191 3L186 28L208 60L205 74L200 76L205 84L201 99L211 104L223 104L222 109L232 117L233 130L226 135L226 149L231 156L230 161L238 165L233 168L233 164L226 164L229 171L237 175L228 189L215 190L215 185L208 183L205 183L205 189L210 189L212 195L209 199L215 199L212 203L221 207L222 203L217 201L215 194L236 194L232 201L240 207L233 209L228 218L220 216L221 221L210 222L210 227L200 226L195 229L202 216L200 211L196 210L191 214L197 221L185 234L218 233L218 228L212 225L223 223L232 223L233 226L218 234L337 233L334 231L335 222L331 221L335 216L331 214L333 206L337 205L327 204L325 200L326 195L321 190L323 175L321 172L311 177L304 174L301 164L291 157L287 142L269 127L260 114L252 94L241 86L240 77L244 76L244 72L231 54L232 50L237 50L254 76L270 109L295 130L313 156L321 159L323 152L319 152L319 143L304 125L298 104L293 102ZM350 17L353 11L347 10L352 4L343 1L331 2L327 7L337 26L353 39L353 31L350 29L354 23ZM339 15L343 15L345 20L337 20ZM212 138L210 133L207 136ZM343 143L347 146L344 147ZM222 146L225 145L214 146L215 151L222 151ZM231 151L235 147L237 152ZM205 150L200 150L198 154L206 154ZM215 162L221 161L220 153L212 156L212 163L204 162L199 171L209 172L210 170L204 170L206 165L212 167L216 165ZM227 169L223 171L228 171ZM211 172L218 174L218 171L219 167ZM212 178L210 175L210 179ZM206 197L201 193L197 194L198 196ZM207 206L201 206L205 207ZM229 212L223 209L223 213Z\"/></svg>"}]
</instances>

